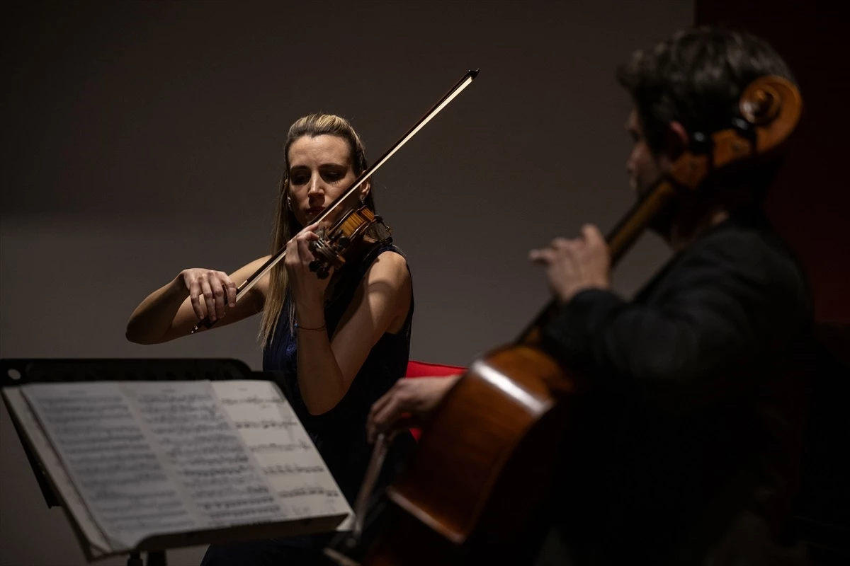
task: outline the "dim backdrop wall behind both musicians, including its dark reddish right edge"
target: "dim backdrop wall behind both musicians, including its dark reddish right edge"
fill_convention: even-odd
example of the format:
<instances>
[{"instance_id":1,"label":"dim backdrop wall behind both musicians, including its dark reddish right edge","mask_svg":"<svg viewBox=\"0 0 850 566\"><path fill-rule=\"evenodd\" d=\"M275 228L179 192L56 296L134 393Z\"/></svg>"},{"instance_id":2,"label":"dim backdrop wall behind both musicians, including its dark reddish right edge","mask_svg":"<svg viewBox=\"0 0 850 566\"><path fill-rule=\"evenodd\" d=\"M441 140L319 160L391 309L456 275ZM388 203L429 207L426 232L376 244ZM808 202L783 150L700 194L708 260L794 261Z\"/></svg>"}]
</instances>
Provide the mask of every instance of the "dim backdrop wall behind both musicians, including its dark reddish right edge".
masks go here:
<instances>
[{"instance_id":1,"label":"dim backdrop wall behind both musicians, including its dark reddish right edge","mask_svg":"<svg viewBox=\"0 0 850 566\"><path fill-rule=\"evenodd\" d=\"M585 221L605 230L631 203L615 65L693 23L694 9L700 23L768 36L802 83L806 115L771 207L808 266L819 319L847 322L848 75L839 19L821 8L20 4L4 18L0 356L228 356L259 368L256 320L151 347L129 344L124 325L184 267L232 271L268 252L280 150L298 116L347 116L374 159L480 67L376 179L378 208L411 257L412 356L467 364L546 302L530 248ZM632 294L665 258L643 238L616 289ZM0 563L83 563L0 413ZM198 563L202 550L169 561Z\"/></svg>"}]
</instances>

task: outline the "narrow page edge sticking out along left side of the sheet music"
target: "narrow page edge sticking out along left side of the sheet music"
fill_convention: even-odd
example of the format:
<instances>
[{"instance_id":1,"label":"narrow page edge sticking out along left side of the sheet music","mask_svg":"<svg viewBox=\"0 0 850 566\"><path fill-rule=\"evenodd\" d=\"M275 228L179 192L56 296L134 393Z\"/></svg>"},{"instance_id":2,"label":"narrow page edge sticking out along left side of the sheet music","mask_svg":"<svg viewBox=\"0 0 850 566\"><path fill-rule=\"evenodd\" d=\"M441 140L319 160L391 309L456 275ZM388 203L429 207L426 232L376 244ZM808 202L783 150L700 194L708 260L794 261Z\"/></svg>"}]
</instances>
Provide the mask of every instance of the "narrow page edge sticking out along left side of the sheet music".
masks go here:
<instances>
[{"instance_id":1,"label":"narrow page edge sticking out along left side of the sheet music","mask_svg":"<svg viewBox=\"0 0 850 566\"><path fill-rule=\"evenodd\" d=\"M82 501L80 493L74 486L71 478L65 473L65 468L62 467L62 462L59 461L59 455L54 451L50 441L44 435L42 425L27 404L24 396L21 395L20 389L17 387L8 387L3 389L3 395L9 402L9 405L14 409L15 416L19 419L21 428L26 432L33 449L38 454L38 459L46 469L50 478L53 479L54 487L59 491L59 498L62 504L69 513L77 521L79 529L87 539L89 552L94 558L110 551L110 545L104 538L98 525L94 522L91 513L88 513L88 508L85 502Z\"/></svg>"}]
</instances>

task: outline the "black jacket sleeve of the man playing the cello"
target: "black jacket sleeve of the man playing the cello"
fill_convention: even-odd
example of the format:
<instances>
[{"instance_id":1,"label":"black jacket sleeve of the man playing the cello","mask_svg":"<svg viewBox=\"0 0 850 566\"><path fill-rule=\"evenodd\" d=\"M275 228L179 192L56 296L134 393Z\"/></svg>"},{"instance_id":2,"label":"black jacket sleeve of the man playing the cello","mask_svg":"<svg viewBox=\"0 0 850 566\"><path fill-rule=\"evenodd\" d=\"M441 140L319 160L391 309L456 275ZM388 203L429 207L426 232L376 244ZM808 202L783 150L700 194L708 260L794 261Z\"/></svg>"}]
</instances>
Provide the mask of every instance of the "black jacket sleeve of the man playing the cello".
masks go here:
<instances>
[{"instance_id":1,"label":"black jacket sleeve of the man playing the cello","mask_svg":"<svg viewBox=\"0 0 850 566\"><path fill-rule=\"evenodd\" d=\"M598 289L576 294L543 328L544 347L594 379L687 383L791 339L806 312L791 258L752 233L706 240L649 304Z\"/></svg>"}]
</instances>

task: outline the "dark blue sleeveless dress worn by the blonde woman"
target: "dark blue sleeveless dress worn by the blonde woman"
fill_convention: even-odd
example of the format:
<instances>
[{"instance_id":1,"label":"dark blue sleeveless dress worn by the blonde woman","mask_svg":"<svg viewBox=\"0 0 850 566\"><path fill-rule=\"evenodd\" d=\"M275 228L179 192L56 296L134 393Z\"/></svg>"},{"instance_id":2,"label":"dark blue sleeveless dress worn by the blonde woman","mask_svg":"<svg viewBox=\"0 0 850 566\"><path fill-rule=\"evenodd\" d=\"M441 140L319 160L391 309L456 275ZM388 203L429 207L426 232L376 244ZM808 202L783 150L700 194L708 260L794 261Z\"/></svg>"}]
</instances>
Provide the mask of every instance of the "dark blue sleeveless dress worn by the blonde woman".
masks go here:
<instances>
[{"instance_id":1,"label":"dark blue sleeveless dress worn by the blonde woman","mask_svg":"<svg viewBox=\"0 0 850 566\"><path fill-rule=\"evenodd\" d=\"M376 245L355 266L345 266L336 283L340 289L325 306L325 323L328 336L332 336L345 310L354 298L354 292L377 257L385 251L404 255L392 244ZM406 256L405 256L406 258ZM360 484L369 464L372 446L366 440L366 416L372 403L405 375L410 355L413 297L404 326L398 333L384 333L369 352L360 372L348 388L343 399L330 411L311 415L298 388L297 379L297 328L290 330L287 318L288 301L275 328L275 336L263 350L263 371L276 374L275 381L286 395L310 438L337 480L340 490L354 507ZM399 435L388 452L376 490L388 485L398 472L415 440L410 433ZM210 546L201 566L301 566L317 563L321 549L334 533L326 535L283 537L269 541Z\"/></svg>"}]
</instances>

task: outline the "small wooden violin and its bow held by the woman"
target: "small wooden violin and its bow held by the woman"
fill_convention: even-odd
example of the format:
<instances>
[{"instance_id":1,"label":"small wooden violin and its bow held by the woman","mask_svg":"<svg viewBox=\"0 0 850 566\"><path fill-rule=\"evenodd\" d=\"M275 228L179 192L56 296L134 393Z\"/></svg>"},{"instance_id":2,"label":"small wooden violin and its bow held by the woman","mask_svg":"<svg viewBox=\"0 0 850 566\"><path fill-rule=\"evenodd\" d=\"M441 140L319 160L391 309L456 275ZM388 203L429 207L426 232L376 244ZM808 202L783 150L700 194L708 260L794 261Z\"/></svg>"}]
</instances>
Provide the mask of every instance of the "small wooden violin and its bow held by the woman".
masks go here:
<instances>
[{"instance_id":1,"label":"small wooden violin and its bow held by the woman","mask_svg":"<svg viewBox=\"0 0 850 566\"><path fill-rule=\"evenodd\" d=\"M433 120L433 117L438 115L463 89L468 87L472 81L478 76L479 70L469 70L467 74L462 76L439 100L434 103L422 117L411 126L405 134L399 138L371 167L367 167L365 171L354 179L351 186L348 187L337 199L333 199L331 204L327 206L322 213L314 219L314 222L319 222L320 227L316 231L319 239L310 242L310 251L314 255L314 261L309 264L311 272L316 274L316 277L325 279L331 267L335 269L341 268L345 264L346 255L356 253L355 250L360 246L365 233L369 228L376 223L382 224L391 233L390 228L383 223L381 216L377 216L374 210L371 210L363 200L356 200L352 204L351 196L357 188L360 188L375 171L377 171L384 163L386 163L395 152L402 148L405 143L411 140L411 137L416 135L416 132L422 129L423 126ZM340 215L338 221L334 222L330 228L325 227L322 222L326 222L331 215ZM277 265L280 261L286 258L286 246L283 246L269 257L269 260L263 263L256 272L253 272L236 288L235 300L238 302L246 293L252 289L254 285L263 278L271 268ZM209 317L205 317L201 322L195 324L190 333L194 334L204 328L212 328L215 322L211 322Z\"/></svg>"}]
</instances>

